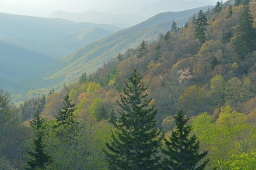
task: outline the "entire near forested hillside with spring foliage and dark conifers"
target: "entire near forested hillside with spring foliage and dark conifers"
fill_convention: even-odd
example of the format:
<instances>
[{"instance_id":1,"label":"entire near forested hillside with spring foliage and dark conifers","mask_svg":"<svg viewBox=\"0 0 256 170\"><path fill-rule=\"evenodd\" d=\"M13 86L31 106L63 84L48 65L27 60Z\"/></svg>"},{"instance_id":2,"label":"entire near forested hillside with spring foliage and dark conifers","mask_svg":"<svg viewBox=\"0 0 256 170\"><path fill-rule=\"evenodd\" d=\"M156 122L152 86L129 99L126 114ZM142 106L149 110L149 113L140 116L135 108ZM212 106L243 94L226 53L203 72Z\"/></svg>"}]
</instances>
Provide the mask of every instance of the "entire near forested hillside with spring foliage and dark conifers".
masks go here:
<instances>
[{"instance_id":1,"label":"entire near forested hillside with spring foliage and dark conifers","mask_svg":"<svg viewBox=\"0 0 256 170\"><path fill-rule=\"evenodd\" d=\"M256 0L198 11L16 107L0 169L256 169Z\"/></svg>"}]
</instances>

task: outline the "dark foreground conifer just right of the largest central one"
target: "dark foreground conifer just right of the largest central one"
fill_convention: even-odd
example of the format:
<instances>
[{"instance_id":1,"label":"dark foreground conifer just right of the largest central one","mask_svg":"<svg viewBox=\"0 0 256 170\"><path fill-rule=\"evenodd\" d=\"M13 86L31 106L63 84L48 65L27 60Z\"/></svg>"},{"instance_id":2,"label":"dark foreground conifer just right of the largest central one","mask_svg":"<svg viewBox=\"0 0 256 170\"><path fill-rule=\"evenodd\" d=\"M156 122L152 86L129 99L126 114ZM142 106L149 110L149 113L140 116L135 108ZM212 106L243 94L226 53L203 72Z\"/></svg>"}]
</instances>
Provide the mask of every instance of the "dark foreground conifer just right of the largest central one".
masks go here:
<instances>
[{"instance_id":1,"label":"dark foreground conifer just right of the largest central one","mask_svg":"<svg viewBox=\"0 0 256 170\"><path fill-rule=\"evenodd\" d=\"M165 159L164 169L188 170L204 169L208 160L198 164L208 151L199 154L199 141L195 135L189 137L192 130L191 125L186 125L189 118L185 118L185 113L180 111L177 116L173 116L177 129L172 132L169 140L165 140L166 150L163 150Z\"/></svg>"}]
</instances>

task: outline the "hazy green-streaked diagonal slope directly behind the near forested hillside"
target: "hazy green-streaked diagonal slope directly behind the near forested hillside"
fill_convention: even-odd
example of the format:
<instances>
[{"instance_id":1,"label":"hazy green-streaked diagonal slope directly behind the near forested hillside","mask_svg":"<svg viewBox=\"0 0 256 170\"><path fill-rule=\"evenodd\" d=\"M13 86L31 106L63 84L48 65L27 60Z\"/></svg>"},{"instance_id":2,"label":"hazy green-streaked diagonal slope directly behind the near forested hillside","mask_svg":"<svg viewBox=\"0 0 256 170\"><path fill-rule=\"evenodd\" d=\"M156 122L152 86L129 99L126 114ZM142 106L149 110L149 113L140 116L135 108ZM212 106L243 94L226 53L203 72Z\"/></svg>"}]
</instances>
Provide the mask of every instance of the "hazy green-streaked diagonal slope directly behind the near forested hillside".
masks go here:
<instances>
[{"instance_id":1,"label":"hazy green-streaked diagonal slope directly behind the near forested hillside","mask_svg":"<svg viewBox=\"0 0 256 170\"><path fill-rule=\"evenodd\" d=\"M182 12L165 12L153 16L153 18L135 25L134 27L121 30L102 40L92 42L44 69L44 71L34 79L40 81L40 85L37 86L37 88L43 86L50 87L58 85L61 82L70 81L74 79L74 77L79 76L83 71L96 71L104 62L115 57L120 51L136 47L143 40L156 40L159 33L169 30L171 22L176 20L173 15L177 18L184 18L176 20L177 25L181 27L187 21L187 18L194 14L195 11L199 9L207 10L208 7L209 6L200 7ZM181 17L179 17L178 14L180 14ZM154 24L155 26L150 27Z\"/></svg>"}]
</instances>

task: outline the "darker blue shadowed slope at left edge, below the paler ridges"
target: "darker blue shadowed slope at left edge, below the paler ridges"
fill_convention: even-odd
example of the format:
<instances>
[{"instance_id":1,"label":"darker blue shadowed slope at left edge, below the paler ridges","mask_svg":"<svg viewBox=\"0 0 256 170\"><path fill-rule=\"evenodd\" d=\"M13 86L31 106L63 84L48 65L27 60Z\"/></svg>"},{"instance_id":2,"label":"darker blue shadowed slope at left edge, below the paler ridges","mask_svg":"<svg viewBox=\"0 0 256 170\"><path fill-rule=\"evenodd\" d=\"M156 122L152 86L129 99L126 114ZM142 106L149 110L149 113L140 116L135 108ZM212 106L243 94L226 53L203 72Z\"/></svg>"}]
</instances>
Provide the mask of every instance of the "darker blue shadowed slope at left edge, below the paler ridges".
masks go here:
<instances>
[{"instance_id":1,"label":"darker blue shadowed slope at left edge, below the paler ridges","mask_svg":"<svg viewBox=\"0 0 256 170\"><path fill-rule=\"evenodd\" d=\"M24 89L20 82L48 66L56 59L25 49L18 42L0 39L0 89Z\"/></svg>"}]
</instances>

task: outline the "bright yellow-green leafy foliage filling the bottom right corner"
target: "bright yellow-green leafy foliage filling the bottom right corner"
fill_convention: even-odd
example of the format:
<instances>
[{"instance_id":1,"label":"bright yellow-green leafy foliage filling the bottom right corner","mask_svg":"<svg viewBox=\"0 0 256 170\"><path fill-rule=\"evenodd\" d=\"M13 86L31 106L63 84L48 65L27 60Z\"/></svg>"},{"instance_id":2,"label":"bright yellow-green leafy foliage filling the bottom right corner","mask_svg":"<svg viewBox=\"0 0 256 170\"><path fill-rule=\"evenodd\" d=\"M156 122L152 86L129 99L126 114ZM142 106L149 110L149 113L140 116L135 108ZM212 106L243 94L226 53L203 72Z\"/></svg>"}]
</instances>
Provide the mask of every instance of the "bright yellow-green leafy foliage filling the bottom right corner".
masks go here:
<instances>
[{"instance_id":1,"label":"bright yellow-green leafy foliage filling the bottom right corner","mask_svg":"<svg viewBox=\"0 0 256 170\"><path fill-rule=\"evenodd\" d=\"M211 117L203 113L193 120L192 125L200 147L209 149L208 169L255 166L255 150L251 146L256 140L256 130L246 123L244 114L232 110L230 106L221 107L216 121L212 122Z\"/></svg>"}]
</instances>

